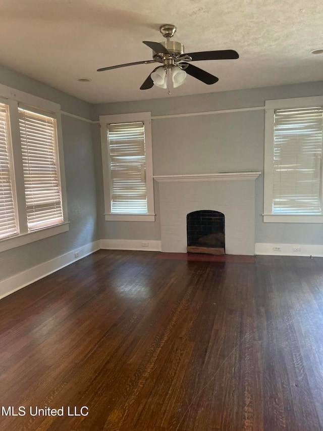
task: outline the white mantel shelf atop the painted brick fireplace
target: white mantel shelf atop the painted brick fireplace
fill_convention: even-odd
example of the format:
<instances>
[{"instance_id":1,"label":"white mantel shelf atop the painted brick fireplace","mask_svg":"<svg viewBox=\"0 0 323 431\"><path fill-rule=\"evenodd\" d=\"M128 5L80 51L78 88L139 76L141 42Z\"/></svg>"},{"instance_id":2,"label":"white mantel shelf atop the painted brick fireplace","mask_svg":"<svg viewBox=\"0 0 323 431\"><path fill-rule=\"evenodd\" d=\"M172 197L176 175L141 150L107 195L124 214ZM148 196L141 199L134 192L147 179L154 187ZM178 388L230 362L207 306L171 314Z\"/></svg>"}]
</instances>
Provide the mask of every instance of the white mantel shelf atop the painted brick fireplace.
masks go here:
<instances>
[{"instance_id":1,"label":"white mantel shelf atop the painted brick fireplace","mask_svg":"<svg viewBox=\"0 0 323 431\"><path fill-rule=\"evenodd\" d=\"M189 175L154 175L158 182L167 181L243 181L255 180L260 171L248 172L218 172L216 174L189 174Z\"/></svg>"}]
</instances>

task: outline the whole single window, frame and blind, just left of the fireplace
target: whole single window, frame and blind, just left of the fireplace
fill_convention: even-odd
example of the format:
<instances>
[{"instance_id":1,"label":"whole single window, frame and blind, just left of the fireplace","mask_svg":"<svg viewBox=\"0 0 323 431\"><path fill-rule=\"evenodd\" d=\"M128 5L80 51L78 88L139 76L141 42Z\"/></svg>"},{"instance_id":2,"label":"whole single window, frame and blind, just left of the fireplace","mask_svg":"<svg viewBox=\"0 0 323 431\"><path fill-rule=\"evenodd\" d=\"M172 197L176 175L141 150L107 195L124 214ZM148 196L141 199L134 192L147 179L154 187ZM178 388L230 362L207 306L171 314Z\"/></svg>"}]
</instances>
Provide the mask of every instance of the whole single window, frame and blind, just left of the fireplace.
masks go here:
<instances>
[{"instance_id":1,"label":"whole single window, frame and blind, just left of the fireplace","mask_svg":"<svg viewBox=\"0 0 323 431\"><path fill-rule=\"evenodd\" d=\"M105 220L154 221L150 112L100 116Z\"/></svg>"}]
</instances>

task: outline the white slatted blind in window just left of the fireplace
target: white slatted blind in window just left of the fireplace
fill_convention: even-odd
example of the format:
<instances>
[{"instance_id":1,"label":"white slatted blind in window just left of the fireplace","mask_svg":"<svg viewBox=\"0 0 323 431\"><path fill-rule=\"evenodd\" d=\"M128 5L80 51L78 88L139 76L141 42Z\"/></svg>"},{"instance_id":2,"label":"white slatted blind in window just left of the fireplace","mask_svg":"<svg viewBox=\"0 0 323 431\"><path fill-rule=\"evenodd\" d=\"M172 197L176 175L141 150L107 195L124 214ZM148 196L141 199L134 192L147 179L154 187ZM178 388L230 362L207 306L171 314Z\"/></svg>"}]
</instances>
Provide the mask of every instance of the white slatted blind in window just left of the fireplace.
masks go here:
<instances>
[{"instance_id":1,"label":"white slatted blind in window just left of the fireplace","mask_svg":"<svg viewBox=\"0 0 323 431\"><path fill-rule=\"evenodd\" d=\"M111 212L147 214L144 123L109 124Z\"/></svg>"}]
</instances>

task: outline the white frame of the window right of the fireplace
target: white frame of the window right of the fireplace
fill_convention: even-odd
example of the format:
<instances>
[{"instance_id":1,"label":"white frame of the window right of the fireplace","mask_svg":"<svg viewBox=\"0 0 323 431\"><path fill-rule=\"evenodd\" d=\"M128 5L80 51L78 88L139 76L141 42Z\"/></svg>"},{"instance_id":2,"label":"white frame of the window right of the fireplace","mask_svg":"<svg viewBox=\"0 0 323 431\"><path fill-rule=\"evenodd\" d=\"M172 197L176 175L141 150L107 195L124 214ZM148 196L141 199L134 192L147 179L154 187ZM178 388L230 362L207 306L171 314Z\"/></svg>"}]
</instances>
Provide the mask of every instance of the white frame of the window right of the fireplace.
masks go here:
<instances>
[{"instance_id":1,"label":"white frame of the window right of the fireplace","mask_svg":"<svg viewBox=\"0 0 323 431\"><path fill-rule=\"evenodd\" d=\"M274 116L276 109L307 108L323 106L323 96L305 98L278 99L265 101L264 126L264 185L263 185L263 221L265 223L323 223L321 214L273 214L273 180L274 180ZM321 169L321 205L323 206L323 186Z\"/></svg>"}]
</instances>

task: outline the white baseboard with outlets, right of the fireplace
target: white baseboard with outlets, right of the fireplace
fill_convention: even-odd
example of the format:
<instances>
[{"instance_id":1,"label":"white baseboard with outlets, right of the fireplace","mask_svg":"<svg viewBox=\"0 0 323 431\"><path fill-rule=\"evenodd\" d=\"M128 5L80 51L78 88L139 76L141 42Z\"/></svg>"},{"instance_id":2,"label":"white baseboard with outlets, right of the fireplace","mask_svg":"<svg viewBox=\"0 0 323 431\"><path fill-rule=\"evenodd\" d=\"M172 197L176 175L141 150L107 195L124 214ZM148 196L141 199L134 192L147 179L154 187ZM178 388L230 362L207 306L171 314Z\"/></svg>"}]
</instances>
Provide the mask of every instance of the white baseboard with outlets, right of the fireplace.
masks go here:
<instances>
[{"instance_id":1,"label":"white baseboard with outlets, right of the fireplace","mask_svg":"<svg viewBox=\"0 0 323 431\"><path fill-rule=\"evenodd\" d=\"M280 250L275 250L275 248ZM294 250L299 249L299 250ZM313 244L255 244L256 255L323 257L323 245Z\"/></svg>"}]
</instances>

